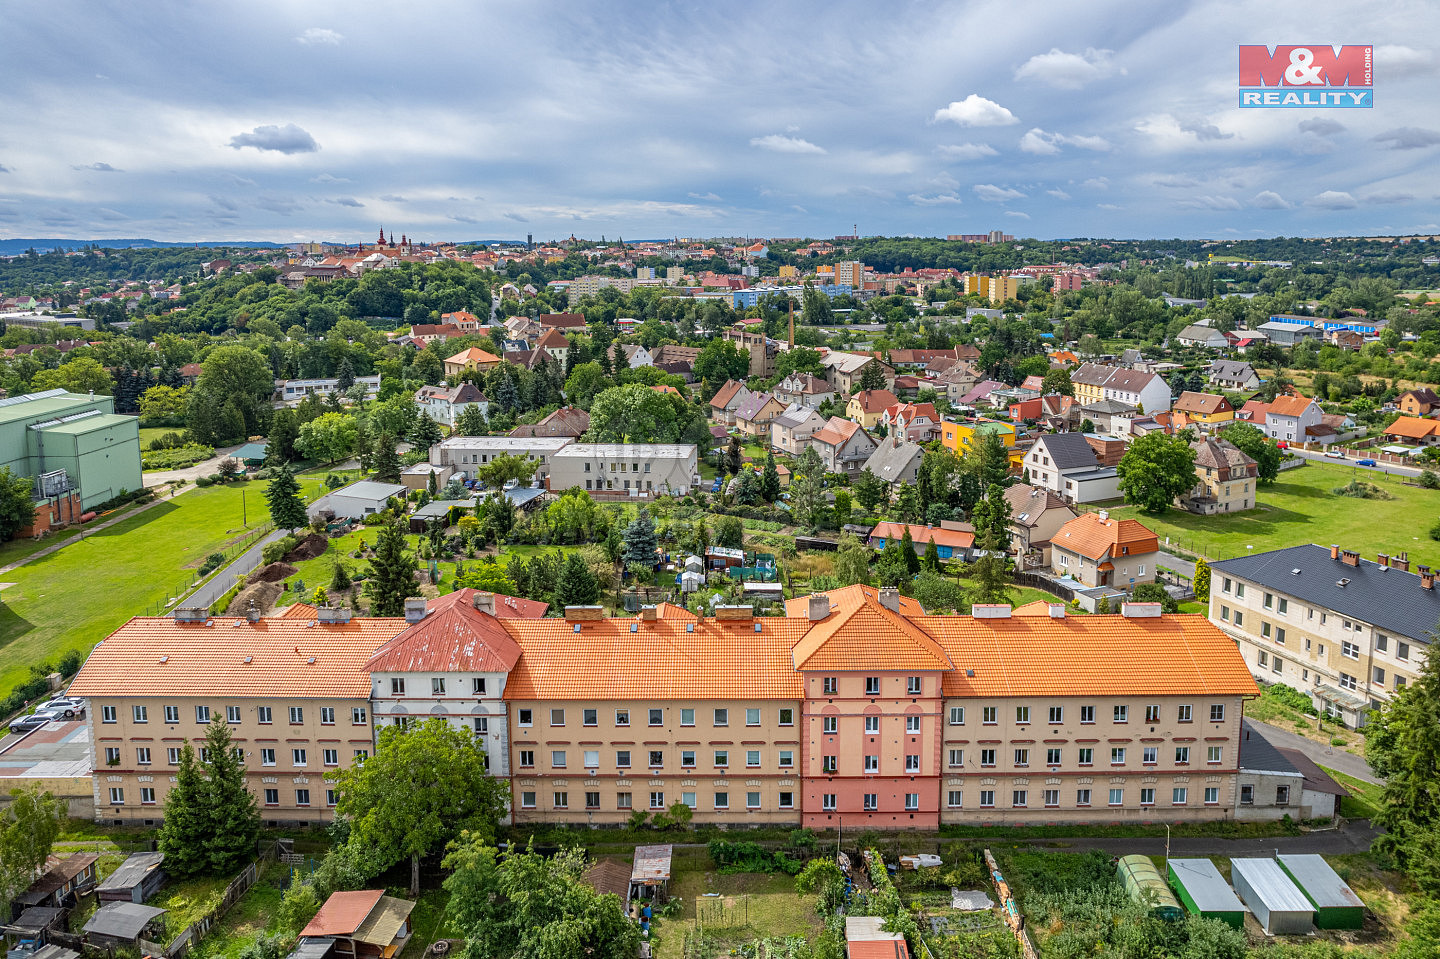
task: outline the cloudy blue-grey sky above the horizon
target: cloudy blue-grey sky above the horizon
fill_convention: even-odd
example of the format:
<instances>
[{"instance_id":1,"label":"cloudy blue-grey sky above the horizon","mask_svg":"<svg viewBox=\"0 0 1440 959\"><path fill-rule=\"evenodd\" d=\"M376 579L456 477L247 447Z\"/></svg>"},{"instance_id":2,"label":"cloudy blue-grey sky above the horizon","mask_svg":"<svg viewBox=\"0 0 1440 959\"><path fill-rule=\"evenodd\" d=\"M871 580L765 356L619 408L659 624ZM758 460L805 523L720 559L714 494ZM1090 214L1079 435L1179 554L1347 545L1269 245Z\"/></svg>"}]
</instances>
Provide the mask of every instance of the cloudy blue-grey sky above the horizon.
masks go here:
<instances>
[{"instance_id":1,"label":"cloudy blue-grey sky above the horizon","mask_svg":"<svg viewBox=\"0 0 1440 959\"><path fill-rule=\"evenodd\" d=\"M0 236L1440 232L1440 3L7 4ZM1237 48L1375 46L1372 109Z\"/></svg>"}]
</instances>

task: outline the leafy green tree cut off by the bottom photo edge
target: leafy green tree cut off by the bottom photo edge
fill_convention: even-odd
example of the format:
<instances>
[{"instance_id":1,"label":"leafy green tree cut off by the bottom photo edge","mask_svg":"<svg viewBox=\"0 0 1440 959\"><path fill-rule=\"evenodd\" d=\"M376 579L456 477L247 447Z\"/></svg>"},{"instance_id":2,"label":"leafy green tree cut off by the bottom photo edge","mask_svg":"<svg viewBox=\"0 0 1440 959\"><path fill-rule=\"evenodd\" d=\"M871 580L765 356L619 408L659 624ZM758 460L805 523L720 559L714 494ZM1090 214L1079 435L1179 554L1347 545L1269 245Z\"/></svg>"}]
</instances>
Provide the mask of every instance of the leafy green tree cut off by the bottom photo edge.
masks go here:
<instances>
[{"instance_id":1,"label":"leafy green tree cut off by the bottom photo edge","mask_svg":"<svg viewBox=\"0 0 1440 959\"><path fill-rule=\"evenodd\" d=\"M615 894L582 881L585 851L540 855L533 847L504 858L488 839L462 834L444 863L448 914L472 959L631 959L639 924Z\"/></svg>"}]
</instances>

